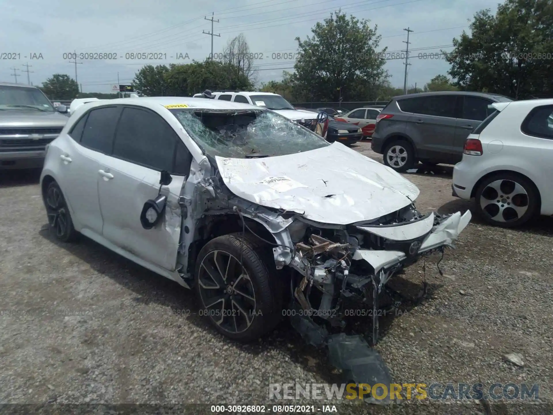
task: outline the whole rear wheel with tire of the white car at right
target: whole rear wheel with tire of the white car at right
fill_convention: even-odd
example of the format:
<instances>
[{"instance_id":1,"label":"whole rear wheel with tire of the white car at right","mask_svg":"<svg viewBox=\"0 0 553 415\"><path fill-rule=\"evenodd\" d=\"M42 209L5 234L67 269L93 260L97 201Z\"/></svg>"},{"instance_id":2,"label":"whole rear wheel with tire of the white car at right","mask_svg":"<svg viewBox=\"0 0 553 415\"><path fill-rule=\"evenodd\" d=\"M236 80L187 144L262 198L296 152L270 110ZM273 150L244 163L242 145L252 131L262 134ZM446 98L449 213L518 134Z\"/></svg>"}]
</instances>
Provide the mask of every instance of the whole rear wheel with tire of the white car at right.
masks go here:
<instances>
[{"instance_id":1,"label":"whole rear wheel with tire of the white car at right","mask_svg":"<svg viewBox=\"0 0 553 415\"><path fill-rule=\"evenodd\" d=\"M534 184L515 173L498 173L484 179L474 198L478 215L488 224L501 227L523 225L539 208Z\"/></svg>"}]
</instances>

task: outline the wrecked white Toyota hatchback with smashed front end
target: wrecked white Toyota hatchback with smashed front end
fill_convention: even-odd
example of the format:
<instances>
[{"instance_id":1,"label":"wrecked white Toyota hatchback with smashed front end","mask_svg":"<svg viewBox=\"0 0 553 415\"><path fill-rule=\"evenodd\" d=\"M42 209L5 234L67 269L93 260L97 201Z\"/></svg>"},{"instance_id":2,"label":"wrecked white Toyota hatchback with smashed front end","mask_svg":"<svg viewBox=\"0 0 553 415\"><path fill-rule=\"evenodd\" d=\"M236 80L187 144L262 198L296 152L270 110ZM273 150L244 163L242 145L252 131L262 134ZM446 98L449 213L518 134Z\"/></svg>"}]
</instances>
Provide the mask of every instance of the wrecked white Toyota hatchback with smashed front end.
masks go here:
<instances>
[{"instance_id":1,"label":"wrecked white Toyota hatchback with smashed front end","mask_svg":"<svg viewBox=\"0 0 553 415\"><path fill-rule=\"evenodd\" d=\"M345 300L375 310L394 273L471 217L421 214L418 188L383 164L266 108L202 98L77 108L40 185L60 241L84 235L193 287L243 341L283 315L343 326Z\"/></svg>"}]
</instances>

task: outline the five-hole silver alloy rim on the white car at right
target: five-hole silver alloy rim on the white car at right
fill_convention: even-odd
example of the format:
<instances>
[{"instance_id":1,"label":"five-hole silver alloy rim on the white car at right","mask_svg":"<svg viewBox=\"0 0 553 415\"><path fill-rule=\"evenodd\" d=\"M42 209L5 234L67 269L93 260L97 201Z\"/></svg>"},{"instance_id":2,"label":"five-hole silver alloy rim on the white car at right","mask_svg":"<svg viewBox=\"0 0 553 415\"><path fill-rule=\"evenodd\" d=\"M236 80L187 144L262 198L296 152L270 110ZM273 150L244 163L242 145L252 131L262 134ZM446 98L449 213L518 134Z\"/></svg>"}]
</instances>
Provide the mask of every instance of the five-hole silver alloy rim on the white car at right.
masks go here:
<instances>
[{"instance_id":1,"label":"five-hole silver alloy rim on the white car at right","mask_svg":"<svg viewBox=\"0 0 553 415\"><path fill-rule=\"evenodd\" d=\"M493 221L512 222L528 211L529 196L516 181L495 180L484 188L478 202L482 211Z\"/></svg>"}]
</instances>

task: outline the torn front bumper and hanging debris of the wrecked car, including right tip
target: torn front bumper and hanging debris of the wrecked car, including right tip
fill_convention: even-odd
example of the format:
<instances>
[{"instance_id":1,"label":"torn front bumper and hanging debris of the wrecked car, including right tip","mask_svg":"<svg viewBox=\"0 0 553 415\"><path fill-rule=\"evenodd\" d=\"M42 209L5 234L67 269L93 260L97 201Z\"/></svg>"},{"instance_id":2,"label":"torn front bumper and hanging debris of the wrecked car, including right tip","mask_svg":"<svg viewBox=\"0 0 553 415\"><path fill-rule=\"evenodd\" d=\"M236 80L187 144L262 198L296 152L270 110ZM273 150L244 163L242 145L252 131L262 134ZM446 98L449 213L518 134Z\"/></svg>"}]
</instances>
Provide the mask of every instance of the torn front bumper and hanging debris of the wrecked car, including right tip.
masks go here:
<instances>
[{"instance_id":1,"label":"torn front bumper and hanging debris of the wrecked car, including right tip","mask_svg":"<svg viewBox=\"0 0 553 415\"><path fill-rule=\"evenodd\" d=\"M309 236L310 243L295 245L289 266L301 275L293 289L294 301L302 318L292 324L311 344L326 341L325 324L344 327L345 303L358 303L371 310L373 343L378 339L378 298L389 279L400 269L432 252L455 247L454 242L471 219L467 211L461 215L431 213L422 218L394 225L357 226L371 238L372 248L357 244L363 235L346 233L348 243L333 242L319 235ZM374 243L380 249L374 249ZM275 253L276 255L276 253ZM313 289L313 288L316 289ZM305 316L308 316L305 318Z\"/></svg>"}]
</instances>

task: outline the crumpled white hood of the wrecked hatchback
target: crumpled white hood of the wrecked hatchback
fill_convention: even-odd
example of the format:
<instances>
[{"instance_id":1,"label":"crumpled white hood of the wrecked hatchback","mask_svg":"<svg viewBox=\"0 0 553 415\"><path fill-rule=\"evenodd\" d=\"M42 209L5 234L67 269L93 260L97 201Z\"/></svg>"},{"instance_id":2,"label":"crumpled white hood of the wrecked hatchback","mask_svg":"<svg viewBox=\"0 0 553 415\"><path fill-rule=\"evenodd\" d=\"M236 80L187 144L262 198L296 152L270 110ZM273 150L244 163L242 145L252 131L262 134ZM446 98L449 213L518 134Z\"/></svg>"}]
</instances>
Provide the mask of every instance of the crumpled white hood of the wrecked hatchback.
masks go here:
<instances>
[{"instance_id":1,"label":"crumpled white hood of the wrecked hatchback","mask_svg":"<svg viewBox=\"0 0 553 415\"><path fill-rule=\"evenodd\" d=\"M378 219L419 195L399 173L340 143L276 157L216 160L235 195L326 224Z\"/></svg>"}]
</instances>

